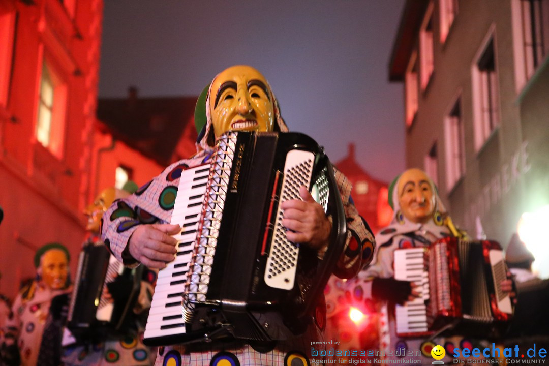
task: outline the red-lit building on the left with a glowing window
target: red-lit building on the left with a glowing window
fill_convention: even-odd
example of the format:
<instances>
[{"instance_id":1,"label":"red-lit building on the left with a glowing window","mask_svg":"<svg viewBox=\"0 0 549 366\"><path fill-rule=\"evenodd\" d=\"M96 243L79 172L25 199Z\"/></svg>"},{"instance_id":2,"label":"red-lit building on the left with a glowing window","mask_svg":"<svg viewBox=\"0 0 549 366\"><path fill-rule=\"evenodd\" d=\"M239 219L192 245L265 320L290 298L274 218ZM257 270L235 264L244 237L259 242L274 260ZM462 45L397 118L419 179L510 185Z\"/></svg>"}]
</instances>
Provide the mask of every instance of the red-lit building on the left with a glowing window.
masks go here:
<instances>
[{"instance_id":1,"label":"red-lit building on the left with a glowing window","mask_svg":"<svg viewBox=\"0 0 549 366\"><path fill-rule=\"evenodd\" d=\"M0 292L35 274L38 247L85 235L102 0L0 2Z\"/></svg>"}]
</instances>

